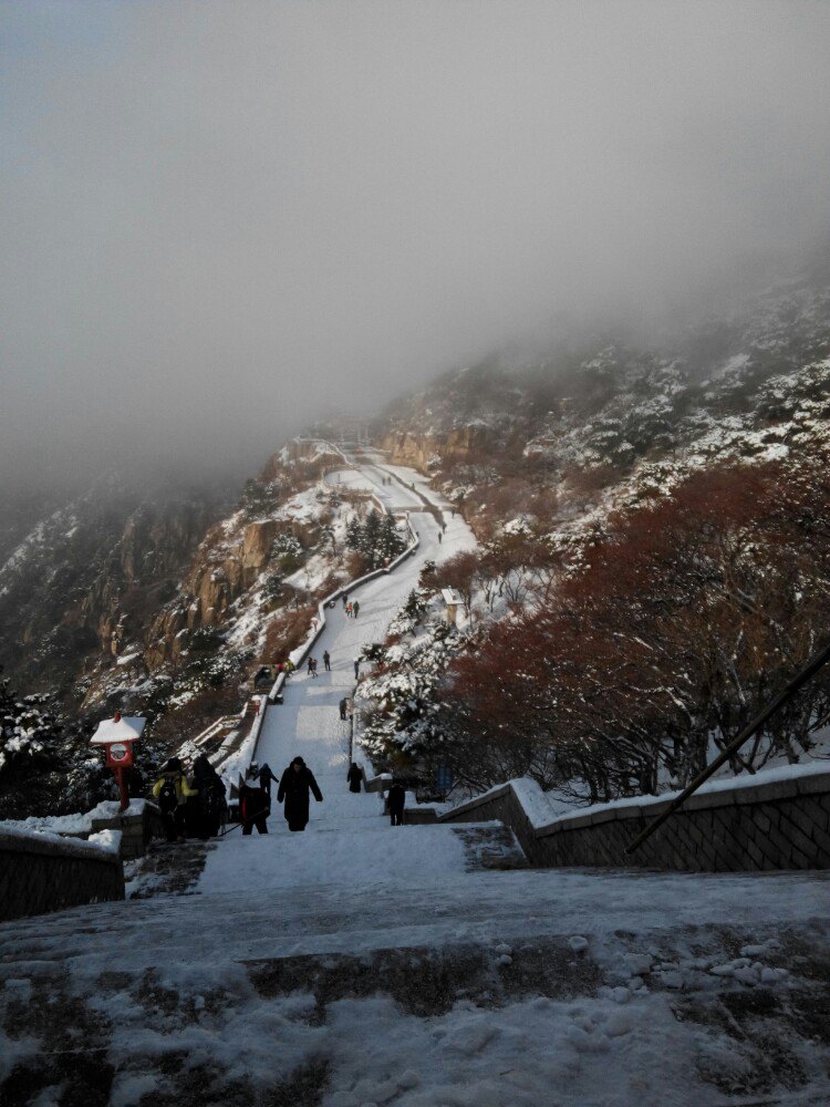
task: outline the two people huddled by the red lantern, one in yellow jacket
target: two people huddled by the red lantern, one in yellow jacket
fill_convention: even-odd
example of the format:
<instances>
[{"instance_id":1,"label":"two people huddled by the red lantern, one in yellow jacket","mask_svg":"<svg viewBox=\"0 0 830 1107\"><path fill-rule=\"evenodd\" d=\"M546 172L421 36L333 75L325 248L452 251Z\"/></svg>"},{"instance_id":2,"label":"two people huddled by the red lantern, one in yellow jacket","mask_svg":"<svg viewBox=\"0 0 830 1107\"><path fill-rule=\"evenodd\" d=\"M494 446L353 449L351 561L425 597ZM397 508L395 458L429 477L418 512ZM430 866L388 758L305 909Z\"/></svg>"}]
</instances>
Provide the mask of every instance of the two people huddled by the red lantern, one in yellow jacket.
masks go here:
<instances>
[{"instance_id":1,"label":"two people huddled by the red lantern, one in yellow jacket","mask_svg":"<svg viewBox=\"0 0 830 1107\"><path fill-rule=\"evenodd\" d=\"M190 780L180 758L170 757L153 785L153 796L158 801L168 842L212 838L227 817L225 785L205 754L194 762Z\"/></svg>"}]
</instances>

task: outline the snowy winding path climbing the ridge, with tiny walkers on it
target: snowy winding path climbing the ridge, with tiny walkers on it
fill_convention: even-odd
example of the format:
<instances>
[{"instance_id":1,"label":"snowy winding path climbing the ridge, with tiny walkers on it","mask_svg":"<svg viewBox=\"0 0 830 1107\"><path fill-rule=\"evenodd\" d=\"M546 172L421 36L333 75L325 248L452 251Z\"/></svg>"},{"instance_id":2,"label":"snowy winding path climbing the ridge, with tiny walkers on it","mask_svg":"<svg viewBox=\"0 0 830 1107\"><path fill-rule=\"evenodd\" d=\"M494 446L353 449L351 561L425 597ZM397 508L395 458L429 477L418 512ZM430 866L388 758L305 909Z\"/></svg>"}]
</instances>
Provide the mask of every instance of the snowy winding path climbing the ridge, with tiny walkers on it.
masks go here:
<instances>
[{"instance_id":1,"label":"snowy winding path climbing the ridge, with tiny walkers on it","mask_svg":"<svg viewBox=\"0 0 830 1107\"><path fill-rule=\"evenodd\" d=\"M392 484L384 485L383 477L392 476ZM351 477L343 480L343 477ZM262 731L257 743L255 761L261 766L268 764L280 776L295 756L301 756L314 774L323 793L323 803L311 800L310 824L307 835L312 831L343 831L326 841L325 849L315 846L310 837L289 834L288 840L262 842L252 848L267 853L279 853L279 865L272 865L274 879L280 887L291 883L295 872L298 881L314 871L315 877L335 879L338 872L350 871L351 866L367 861L377 871L394 872L398 880L409 879L415 872L423 872L429 863L429 851L413 849L409 839L415 828L401 828L404 835L396 839L385 835L381 840L365 839L369 831L388 829L387 820L380 818L383 800L377 794L365 792L353 794L346 785L349 770L349 739L351 723L341 720L339 704L351 696L355 687L355 660L365 645L382 642L386 630L413 588L417 587L421 570L427 560L436 563L452 557L461 549L475 546L475 538L467 524L452 515L448 505L433 494L429 511L423 498L402 483L414 483L417 474L397 467L387 467L383 473L377 465L355 465L346 474L342 470L329 475L329 483L349 483L350 487L361 487L378 496L388 509L406 511L418 536L418 547L387 576L378 577L353 589L349 599L360 603L357 618L346 615L342 602L338 601L326 611L325 628L314 643L313 656L318 660L318 675L311 676L303 668L286 683L283 703L268 708ZM436 515L445 515L443 541L438 541L439 525ZM323 665L323 653L331 656L331 672ZM360 759L360 753L355 756ZM276 792L272 798L276 804ZM274 807L271 827L286 830L281 813ZM347 835L345 832L347 831ZM423 831L422 831L423 834ZM455 853L459 871L464 869L464 851L457 837L449 828L435 828L432 839L446 838L450 852ZM402 842L402 838L406 840ZM398 848L395 848L395 847ZM222 844L222 850L208 859L205 879L214 879L215 870L221 868L220 881L227 878L227 870L236 866L237 849L251 849L250 842ZM434 852L434 850L433 850ZM271 860L261 861L268 868ZM262 880L269 879L267 875Z\"/></svg>"}]
</instances>

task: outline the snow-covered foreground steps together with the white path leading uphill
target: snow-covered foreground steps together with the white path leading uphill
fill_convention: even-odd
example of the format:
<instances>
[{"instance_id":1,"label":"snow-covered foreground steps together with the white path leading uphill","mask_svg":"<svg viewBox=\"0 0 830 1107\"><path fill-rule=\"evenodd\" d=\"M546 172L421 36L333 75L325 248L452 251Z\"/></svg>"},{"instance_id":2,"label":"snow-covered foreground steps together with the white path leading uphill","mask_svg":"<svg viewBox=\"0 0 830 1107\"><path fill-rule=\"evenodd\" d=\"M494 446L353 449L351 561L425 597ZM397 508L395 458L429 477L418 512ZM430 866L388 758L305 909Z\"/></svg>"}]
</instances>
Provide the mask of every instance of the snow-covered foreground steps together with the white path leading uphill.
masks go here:
<instances>
[{"instance_id":1,"label":"snow-covered foreground steps together with the white path leading uphill","mask_svg":"<svg viewBox=\"0 0 830 1107\"><path fill-rule=\"evenodd\" d=\"M305 834L276 814L135 865L151 898L0 927L4 1107L830 1101L827 875L484 871L498 827L393 829L346 790L352 658L469 541L413 520L267 716L260 763L323 790Z\"/></svg>"}]
</instances>

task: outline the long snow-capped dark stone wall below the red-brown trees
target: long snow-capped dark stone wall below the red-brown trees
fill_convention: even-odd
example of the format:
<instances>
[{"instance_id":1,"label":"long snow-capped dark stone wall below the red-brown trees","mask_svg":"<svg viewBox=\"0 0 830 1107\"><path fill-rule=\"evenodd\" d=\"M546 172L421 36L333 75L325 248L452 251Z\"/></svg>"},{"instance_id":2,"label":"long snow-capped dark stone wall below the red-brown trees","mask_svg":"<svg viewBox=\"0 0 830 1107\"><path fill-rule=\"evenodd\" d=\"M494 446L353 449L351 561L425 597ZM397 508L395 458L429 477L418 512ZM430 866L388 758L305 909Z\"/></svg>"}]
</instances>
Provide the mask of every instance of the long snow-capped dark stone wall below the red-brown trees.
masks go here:
<instances>
[{"instance_id":1,"label":"long snow-capped dark stone wall below the red-brown trees","mask_svg":"<svg viewBox=\"0 0 830 1107\"><path fill-rule=\"evenodd\" d=\"M527 784L527 782L522 782ZM625 846L671 800L624 803L540 826L512 784L442 816L443 823L498 819L532 865L747 872L830 868L830 773L692 796L631 856Z\"/></svg>"}]
</instances>

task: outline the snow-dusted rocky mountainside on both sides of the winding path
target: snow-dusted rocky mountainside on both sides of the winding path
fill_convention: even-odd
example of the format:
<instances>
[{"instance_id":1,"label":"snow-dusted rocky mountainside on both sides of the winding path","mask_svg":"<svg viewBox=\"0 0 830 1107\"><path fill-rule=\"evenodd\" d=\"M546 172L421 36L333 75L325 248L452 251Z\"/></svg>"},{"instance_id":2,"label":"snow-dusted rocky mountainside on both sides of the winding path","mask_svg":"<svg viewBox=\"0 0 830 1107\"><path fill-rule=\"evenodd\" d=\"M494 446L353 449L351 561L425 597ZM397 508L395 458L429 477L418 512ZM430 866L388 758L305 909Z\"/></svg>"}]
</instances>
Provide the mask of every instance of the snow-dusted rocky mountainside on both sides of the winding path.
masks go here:
<instances>
[{"instance_id":1,"label":"snow-dusted rocky mountainside on both sides of the winding path","mask_svg":"<svg viewBox=\"0 0 830 1107\"><path fill-rule=\"evenodd\" d=\"M740 474L753 472L767 492L787 483L791 503L805 499L798 488L821 470L830 444L830 277L815 269L649 348L603 334L579 352L446 373L380 414L372 437L392 463L428 476L483 544L466 567L427 575L390 640L376 643L392 652L374 690L366 684L367 746L378 763L403 751L416 772L425 743L447 730L432 717L435 705L448 703L456 716L461 705L452 700L458 643L437 624L428 641L418 630L438 613L439 587L465 593L475 630L465 649L479 649L496 627L502 633L540 606L554 608L562 581L574 588L591 568L592 548L624 535L631 544L641 523L649 530L656 505L688 500L694 479L728 470L746 484ZM350 519L365 521L365 494L325 483L342 461L326 443L353 438L349 418L312 428L278 451L235 506L225 494L153 498L102 482L71 504L7 513L0 663L13 684L59 693L70 720L116 707L146 713L159 756L238 711L252 669L302 641L315 602L377 556L347 534ZM735 523L737 542L741 534L748 541L750 521ZM755 521L758 549L760 513ZM807 540L821 568L816 528ZM823 597L821 573L799 571L801 591ZM589 576L580 579L589 587ZM759 681L736 718L775 674L770 681ZM686 689L683 711L699 716L702 695L697 685ZM547 772L537 775L548 779ZM678 765L672 774L682 775ZM653 773L631 786L644 783L654 784Z\"/></svg>"}]
</instances>

